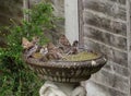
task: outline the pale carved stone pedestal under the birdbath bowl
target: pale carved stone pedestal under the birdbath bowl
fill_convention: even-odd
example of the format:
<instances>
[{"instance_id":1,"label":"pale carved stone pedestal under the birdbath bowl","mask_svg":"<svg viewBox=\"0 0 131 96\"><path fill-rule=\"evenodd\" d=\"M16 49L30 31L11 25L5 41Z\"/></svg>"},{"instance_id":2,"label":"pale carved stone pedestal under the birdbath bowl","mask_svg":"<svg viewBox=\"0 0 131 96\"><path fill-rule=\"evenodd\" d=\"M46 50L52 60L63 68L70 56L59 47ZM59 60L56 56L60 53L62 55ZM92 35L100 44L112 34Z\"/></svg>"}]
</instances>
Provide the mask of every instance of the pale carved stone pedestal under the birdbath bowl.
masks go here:
<instances>
[{"instance_id":1,"label":"pale carved stone pedestal under the birdbath bowl","mask_svg":"<svg viewBox=\"0 0 131 96\"><path fill-rule=\"evenodd\" d=\"M86 89L79 83L47 81L39 89L40 96L86 96Z\"/></svg>"}]
</instances>

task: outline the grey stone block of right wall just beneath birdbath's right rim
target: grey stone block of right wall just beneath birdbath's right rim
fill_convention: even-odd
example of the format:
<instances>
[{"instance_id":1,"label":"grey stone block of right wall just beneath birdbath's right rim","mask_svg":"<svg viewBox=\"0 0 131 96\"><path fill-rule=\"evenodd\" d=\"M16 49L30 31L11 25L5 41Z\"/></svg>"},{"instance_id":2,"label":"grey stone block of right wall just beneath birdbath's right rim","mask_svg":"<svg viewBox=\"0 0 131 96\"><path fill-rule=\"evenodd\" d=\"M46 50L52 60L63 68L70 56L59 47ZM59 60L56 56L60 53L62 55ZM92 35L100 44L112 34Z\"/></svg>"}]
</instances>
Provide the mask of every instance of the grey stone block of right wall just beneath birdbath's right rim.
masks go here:
<instances>
[{"instance_id":1,"label":"grey stone block of right wall just beneath birdbath's right rim","mask_svg":"<svg viewBox=\"0 0 131 96\"><path fill-rule=\"evenodd\" d=\"M91 80L96 81L99 84L114 87L123 93L128 93L129 91L128 77L126 79L122 75L116 75L115 72L102 70L94 74Z\"/></svg>"}]
</instances>

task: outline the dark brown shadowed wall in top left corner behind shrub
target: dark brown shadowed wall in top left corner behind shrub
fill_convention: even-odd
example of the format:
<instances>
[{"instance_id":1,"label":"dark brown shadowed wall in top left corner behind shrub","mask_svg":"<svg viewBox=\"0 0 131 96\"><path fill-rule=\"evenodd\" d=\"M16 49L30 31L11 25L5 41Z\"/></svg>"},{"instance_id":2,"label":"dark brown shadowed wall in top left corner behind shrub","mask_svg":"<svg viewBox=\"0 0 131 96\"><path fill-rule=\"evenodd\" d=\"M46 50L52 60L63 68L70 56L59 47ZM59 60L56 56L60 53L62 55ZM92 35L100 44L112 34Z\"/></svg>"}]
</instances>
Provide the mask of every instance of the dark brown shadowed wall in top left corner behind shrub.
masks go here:
<instances>
[{"instance_id":1,"label":"dark brown shadowed wall in top left corner behind shrub","mask_svg":"<svg viewBox=\"0 0 131 96\"><path fill-rule=\"evenodd\" d=\"M23 17L22 5L22 0L0 0L0 26L11 25L11 19L20 23ZM3 38L5 33L0 32L0 47L5 46Z\"/></svg>"}]
</instances>

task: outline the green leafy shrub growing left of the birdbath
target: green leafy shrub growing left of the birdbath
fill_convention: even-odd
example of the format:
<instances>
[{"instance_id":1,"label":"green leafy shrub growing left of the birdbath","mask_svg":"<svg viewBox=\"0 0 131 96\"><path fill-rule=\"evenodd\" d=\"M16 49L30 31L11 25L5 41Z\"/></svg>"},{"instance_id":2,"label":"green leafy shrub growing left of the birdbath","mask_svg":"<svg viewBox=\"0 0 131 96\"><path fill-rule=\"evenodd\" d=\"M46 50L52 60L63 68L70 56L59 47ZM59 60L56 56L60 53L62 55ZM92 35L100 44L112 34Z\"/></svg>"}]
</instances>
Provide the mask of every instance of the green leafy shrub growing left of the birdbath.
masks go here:
<instances>
[{"instance_id":1,"label":"green leafy shrub growing left of the birdbath","mask_svg":"<svg viewBox=\"0 0 131 96\"><path fill-rule=\"evenodd\" d=\"M32 10L27 10L29 21L22 21L5 27L9 35L5 36L5 48L0 48L0 96L38 96L38 89L43 84L37 74L28 69L22 60L22 37L32 39L33 36L41 38L40 43L48 41L44 31L55 27L51 4L40 2Z\"/></svg>"}]
</instances>

